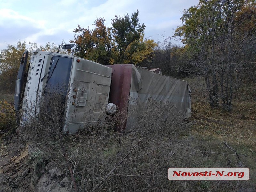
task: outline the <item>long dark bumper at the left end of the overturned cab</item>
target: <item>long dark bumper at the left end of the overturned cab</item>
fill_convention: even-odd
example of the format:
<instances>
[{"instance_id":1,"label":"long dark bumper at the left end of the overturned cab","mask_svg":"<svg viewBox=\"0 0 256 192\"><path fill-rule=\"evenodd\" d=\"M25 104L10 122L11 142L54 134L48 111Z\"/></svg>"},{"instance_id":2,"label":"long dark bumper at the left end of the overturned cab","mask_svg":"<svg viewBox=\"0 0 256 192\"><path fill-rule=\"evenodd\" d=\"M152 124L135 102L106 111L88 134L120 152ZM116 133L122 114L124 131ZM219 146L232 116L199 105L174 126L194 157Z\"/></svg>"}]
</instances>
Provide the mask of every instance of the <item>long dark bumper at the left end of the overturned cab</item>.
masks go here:
<instances>
[{"instance_id":1,"label":"long dark bumper at the left end of the overturned cab","mask_svg":"<svg viewBox=\"0 0 256 192\"><path fill-rule=\"evenodd\" d=\"M22 54L22 58L20 61L20 68L18 71L16 86L15 86L14 107L15 107L16 118L17 118L18 124L20 122L19 110L20 110L20 104L21 104L21 94L22 94L23 87L25 87L24 79L25 79L25 70L26 70L26 65L27 65L27 59L28 59L28 50L24 51L24 53Z\"/></svg>"}]
</instances>

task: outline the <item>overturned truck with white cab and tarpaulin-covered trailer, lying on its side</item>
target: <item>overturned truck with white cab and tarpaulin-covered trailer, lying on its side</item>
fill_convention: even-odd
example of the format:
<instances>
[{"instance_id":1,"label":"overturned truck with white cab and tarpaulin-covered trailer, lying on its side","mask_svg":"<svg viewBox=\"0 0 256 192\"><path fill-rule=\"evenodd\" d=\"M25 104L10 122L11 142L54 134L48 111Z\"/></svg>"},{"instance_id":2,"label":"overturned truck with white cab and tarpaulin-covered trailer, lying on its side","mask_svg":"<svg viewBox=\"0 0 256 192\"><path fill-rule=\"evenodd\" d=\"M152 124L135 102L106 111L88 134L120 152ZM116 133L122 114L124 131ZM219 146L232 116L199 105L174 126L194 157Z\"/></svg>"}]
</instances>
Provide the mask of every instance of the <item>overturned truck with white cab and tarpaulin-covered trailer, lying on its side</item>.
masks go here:
<instances>
[{"instance_id":1,"label":"overturned truck with white cab and tarpaulin-covered trailer, lying on its side","mask_svg":"<svg viewBox=\"0 0 256 192\"><path fill-rule=\"evenodd\" d=\"M63 45L63 49L73 44ZM25 72L28 51L22 55L14 96L17 122L24 126L37 118L42 100L59 95L64 107L63 132L74 134L84 126L104 120L116 106L125 123L119 132L132 130L138 121L132 113L136 101L147 108L148 99L168 101L172 113L191 115L190 89L186 81L164 76L132 64L101 65L73 55L34 50ZM110 109L110 110L109 110ZM114 109L114 110L113 110Z\"/></svg>"}]
</instances>

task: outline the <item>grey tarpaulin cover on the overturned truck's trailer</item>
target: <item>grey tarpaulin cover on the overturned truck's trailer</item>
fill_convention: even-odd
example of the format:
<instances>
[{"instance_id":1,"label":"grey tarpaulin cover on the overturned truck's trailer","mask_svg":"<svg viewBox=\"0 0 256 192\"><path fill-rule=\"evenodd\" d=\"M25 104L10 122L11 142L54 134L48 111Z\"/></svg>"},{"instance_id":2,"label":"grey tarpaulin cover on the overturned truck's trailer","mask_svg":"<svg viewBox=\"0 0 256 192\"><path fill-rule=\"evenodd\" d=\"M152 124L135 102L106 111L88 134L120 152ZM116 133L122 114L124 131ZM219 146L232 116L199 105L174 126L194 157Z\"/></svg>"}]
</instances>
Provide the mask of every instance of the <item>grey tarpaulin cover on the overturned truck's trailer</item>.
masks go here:
<instances>
[{"instance_id":1,"label":"grey tarpaulin cover on the overturned truck's trailer","mask_svg":"<svg viewBox=\"0 0 256 192\"><path fill-rule=\"evenodd\" d=\"M185 117L191 116L190 89L186 81L164 76L147 69L132 65L130 101L126 132L131 130L137 122L136 113L133 113L136 101L142 103L142 110L146 109L149 98L157 101L168 101L173 104L172 113L183 112Z\"/></svg>"}]
</instances>

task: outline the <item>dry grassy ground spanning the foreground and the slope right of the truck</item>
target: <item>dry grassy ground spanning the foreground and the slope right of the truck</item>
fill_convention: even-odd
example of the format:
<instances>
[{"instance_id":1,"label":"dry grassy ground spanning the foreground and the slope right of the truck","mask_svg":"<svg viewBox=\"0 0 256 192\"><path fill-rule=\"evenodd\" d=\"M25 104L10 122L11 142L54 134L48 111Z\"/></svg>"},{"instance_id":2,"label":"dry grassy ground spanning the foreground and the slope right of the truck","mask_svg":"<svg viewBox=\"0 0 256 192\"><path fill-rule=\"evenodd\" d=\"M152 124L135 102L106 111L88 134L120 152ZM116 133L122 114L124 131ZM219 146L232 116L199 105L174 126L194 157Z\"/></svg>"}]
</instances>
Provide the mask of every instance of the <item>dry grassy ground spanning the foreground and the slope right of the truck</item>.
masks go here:
<instances>
[{"instance_id":1,"label":"dry grassy ground spanning the foreground and the slope right of the truck","mask_svg":"<svg viewBox=\"0 0 256 192\"><path fill-rule=\"evenodd\" d=\"M246 90L241 92L244 102L239 100L239 94L236 95L234 110L229 113L210 108L204 97L206 90L203 79L186 80L193 92L192 117L186 125L180 123L180 119L172 114L169 114L168 121L165 121L160 114L172 106L163 104L156 107L156 103L152 103L152 108L149 107L145 113L137 114L140 121L133 132L124 135L114 132L114 122L108 122L84 127L75 135L62 135L59 138L59 121L55 124L47 121L34 122L34 125L27 127L27 131L30 140L32 138L34 143L37 142L35 146L40 147L42 152L40 158L30 156L30 159L35 158L37 162L36 172L43 172L42 166L38 164L46 166L47 163L53 162L69 178L70 188L71 175L63 156L60 142L62 140L77 188L82 191L255 191L255 85L246 88L250 90L250 94ZM245 112L243 109L246 109ZM116 119L120 120L118 114ZM54 119L50 121L54 122ZM51 134L43 134L47 130ZM37 137L33 137L34 135ZM225 142L234 148L237 154L243 156L238 159ZM250 169L250 180L167 179L169 167L240 166Z\"/></svg>"}]
</instances>

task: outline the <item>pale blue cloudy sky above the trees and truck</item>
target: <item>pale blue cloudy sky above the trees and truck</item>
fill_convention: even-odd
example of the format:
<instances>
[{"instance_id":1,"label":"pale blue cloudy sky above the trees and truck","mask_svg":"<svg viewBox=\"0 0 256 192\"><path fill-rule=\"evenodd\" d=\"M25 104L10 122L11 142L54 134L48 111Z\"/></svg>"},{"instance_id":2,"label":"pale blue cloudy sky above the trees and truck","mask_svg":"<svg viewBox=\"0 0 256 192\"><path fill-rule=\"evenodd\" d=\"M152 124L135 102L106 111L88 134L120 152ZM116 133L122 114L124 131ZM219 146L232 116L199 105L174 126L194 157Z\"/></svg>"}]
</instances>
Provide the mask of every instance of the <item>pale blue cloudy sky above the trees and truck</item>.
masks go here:
<instances>
[{"instance_id":1,"label":"pale blue cloudy sky above the trees and truck","mask_svg":"<svg viewBox=\"0 0 256 192\"><path fill-rule=\"evenodd\" d=\"M0 0L0 50L18 40L45 45L61 44L74 39L73 30L94 29L97 18L111 19L129 16L139 11L140 23L146 25L145 38L162 41L172 36L181 25L183 10L197 5L199 0ZM174 42L173 42L174 43ZM179 42L176 42L179 44Z\"/></svg>"}]
</instances>

